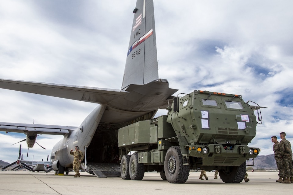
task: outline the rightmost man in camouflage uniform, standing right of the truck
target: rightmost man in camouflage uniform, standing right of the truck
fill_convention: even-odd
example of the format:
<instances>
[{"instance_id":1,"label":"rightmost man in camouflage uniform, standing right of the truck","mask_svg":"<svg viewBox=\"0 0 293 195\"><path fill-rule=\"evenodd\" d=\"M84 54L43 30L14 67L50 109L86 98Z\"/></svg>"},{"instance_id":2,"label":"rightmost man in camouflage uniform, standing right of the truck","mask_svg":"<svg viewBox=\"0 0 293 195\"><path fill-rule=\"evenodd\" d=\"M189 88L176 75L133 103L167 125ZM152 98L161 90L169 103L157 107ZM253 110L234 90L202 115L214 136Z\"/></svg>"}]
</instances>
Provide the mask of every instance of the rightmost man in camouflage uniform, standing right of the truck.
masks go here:
<instances>
[{"instance_id":1,"label":"rightmost man in camouflage uniform, standing right of the truck","mask_svg":"<svg viewBox=\"0 0 293 195\"><path fill-rule=\"evenodd\" d=\"M279 143L280 155L282 159L282 170L283 176L286 177L285 181L281 183L293 183L293 165L292 165L292 149L291 143L286 140L286 133L281 132L280 138L282 139ZM291 177L291 178L290 178Z\"/></svg>"}]
</instances>

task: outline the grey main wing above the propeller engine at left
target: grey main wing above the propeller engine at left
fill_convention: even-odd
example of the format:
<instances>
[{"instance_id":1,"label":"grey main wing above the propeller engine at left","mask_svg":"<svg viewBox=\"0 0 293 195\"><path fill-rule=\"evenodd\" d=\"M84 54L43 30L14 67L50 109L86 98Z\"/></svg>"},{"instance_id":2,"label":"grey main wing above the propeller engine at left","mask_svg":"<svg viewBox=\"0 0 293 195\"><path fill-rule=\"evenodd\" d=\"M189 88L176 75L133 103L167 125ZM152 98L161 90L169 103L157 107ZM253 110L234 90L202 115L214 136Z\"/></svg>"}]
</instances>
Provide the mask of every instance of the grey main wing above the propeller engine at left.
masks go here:
<instances>
[{"instance_id":1,"label":"grey main wing above the propeller engine at left","mask_svg":"<svg viewBox=\"0 0 293 195\"><path fill-rule=\"evenodd\" d=\"M64 135L69 133L70 130L74 130L76 128L78 127L0 122L0 131L25 134L28 132L35 132L37 134Z\"/></svg>"}]
</instances>

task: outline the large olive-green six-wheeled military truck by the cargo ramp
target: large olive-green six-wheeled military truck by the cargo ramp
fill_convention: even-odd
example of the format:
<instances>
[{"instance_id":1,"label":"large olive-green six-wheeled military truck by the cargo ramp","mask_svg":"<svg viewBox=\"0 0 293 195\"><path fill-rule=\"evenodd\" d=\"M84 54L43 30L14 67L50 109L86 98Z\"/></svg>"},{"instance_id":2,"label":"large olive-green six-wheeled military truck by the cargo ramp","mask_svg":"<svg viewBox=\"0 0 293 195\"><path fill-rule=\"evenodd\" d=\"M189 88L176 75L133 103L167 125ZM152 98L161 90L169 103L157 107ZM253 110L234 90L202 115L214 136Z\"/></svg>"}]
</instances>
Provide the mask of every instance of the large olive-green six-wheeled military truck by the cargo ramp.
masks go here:
<instances>
[{"instance_id":1,"label":"large olive-green six-wheeled military truck by the cargo ramp","mask_svg":"<svg viewBox=\"0 0 293 195\"><path fill-rule=\"evenodd\" d=\"M218 170L225 183L240 183L246 160L260 151L248 147L262 121L260 107L248 102L240 95L195 90L174 97L167 115L120 128L122 178L141 180L156 171L170 183L185 183L190 170L203 169Z\"/></svg>"}]
</instances>

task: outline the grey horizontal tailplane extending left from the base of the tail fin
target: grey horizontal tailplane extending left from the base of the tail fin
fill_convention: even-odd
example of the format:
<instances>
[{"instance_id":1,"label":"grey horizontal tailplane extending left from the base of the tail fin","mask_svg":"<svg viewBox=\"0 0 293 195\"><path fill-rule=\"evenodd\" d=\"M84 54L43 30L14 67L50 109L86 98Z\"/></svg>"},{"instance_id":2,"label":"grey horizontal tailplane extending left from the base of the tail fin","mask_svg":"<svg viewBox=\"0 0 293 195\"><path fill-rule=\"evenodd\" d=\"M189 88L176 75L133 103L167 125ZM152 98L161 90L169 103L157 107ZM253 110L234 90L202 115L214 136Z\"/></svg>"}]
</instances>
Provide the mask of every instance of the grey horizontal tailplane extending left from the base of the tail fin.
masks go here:
<instances>
[{"instance_id":1,"label":"grey horizontal tailplane extending left from the base of the tail fin","mask_svg":"<svg viewBox=\"0 0 293 195\"><path fill-rule=\"evenodd\" d=\"M127 91L120 89L105 89L8 79L0 79L0 88L101 104L107 103L128 93Z\"/></svg>"}]
</instances>

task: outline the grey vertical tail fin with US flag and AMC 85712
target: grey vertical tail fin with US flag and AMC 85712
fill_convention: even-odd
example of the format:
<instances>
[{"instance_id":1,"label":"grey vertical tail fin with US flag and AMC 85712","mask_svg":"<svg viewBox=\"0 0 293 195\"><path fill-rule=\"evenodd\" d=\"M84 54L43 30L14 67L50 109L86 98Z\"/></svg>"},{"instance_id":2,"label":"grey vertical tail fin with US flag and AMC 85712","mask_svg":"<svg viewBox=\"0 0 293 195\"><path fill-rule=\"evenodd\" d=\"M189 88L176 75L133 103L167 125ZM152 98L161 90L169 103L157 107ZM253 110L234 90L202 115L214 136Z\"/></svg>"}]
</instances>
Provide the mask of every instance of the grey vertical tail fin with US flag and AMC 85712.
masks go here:
<instances>
[{"instance_id":1,"label":"grey vertical tail fin with US flag and AMC 85712","mask_svg":"<svg viewBox=\"0 0 293 195\"><path fill-rule=\"evenodd\" d=\"M153 0L137 0L121 89L159 78Z\"/></svg>"}]
</instances>

